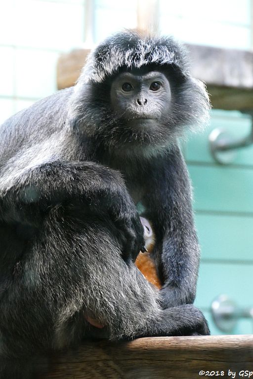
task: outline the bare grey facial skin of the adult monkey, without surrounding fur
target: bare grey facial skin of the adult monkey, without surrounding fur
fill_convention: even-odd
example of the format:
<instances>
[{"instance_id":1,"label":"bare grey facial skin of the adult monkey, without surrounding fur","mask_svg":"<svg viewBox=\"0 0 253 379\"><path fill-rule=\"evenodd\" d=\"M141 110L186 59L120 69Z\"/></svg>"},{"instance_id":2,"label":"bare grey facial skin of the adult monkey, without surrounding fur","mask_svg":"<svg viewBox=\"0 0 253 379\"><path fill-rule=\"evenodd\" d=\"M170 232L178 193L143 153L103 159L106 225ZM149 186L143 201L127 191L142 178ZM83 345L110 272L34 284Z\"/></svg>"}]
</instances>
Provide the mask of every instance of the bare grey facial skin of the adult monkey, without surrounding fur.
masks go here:
<instances>
[{"instance_id":1,"label":"bare grey facial skin of the adult monkey, without surrounding fur","mask_svg":"<svg viewBox=\"0 0 253 379\"><path fill-rule=\"evenodd\" d=\"M136 129L149 129L169 112L169 80L159 71L145 74L125 72L111 86L113 111Z\"/></svg>"}]
</instances>

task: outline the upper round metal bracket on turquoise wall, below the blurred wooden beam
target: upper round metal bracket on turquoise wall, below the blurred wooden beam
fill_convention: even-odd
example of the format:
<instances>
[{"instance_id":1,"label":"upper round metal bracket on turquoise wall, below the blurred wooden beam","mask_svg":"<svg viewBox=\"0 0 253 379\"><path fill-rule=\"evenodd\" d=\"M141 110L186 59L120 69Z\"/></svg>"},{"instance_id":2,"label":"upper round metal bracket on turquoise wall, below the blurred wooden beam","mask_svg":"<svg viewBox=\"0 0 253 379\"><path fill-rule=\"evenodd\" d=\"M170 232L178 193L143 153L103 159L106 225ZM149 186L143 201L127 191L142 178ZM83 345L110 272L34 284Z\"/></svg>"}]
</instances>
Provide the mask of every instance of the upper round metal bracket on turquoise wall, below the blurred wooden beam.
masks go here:
<instances>
[{"instance_id":1,"label":"upper round metal bracket on turquoise wall, below the blurred wooden beam","mask_svg":"<svg viewBox=\"0 0 253 379\"><path fill-rule=\"evenodd\" d=\"M253 113L250 113L253 117ZM236 139L224 129L214 129L209 135L210 152L213 159L219 164L232 163L236 157L236 150L253 144L253 123L250 134Z\"/></svg>"}]
</instances>

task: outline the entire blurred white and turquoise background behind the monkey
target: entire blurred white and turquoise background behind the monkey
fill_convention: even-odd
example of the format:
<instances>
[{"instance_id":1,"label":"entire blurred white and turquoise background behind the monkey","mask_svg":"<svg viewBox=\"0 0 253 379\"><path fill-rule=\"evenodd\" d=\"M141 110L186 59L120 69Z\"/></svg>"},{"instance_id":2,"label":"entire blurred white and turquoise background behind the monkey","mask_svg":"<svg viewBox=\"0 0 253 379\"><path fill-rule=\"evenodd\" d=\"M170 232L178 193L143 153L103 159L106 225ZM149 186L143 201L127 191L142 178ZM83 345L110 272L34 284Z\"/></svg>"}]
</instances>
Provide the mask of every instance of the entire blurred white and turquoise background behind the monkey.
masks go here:
<instances>
[{"instance_id":1,"label":"entire blurred white and turquoise background behind the monkey","mask_svg":"<svg viewBox=\"0 0 253 379\"><path fill-rule=\"evenodd\" d=\"M252 0L0 0L0 123L65 86L59 57L71 76L70 51L137 26L173 35L190 50L199 45L193 71L207 82L213 109L206 130L183 146L202 248L195 303L212 334L253 333ZM211 154L213 130L214 150L237 140L249 146ZM223 302L222 329L211 316L221 294L231 300Z\"/></svg>"}]
</instances>

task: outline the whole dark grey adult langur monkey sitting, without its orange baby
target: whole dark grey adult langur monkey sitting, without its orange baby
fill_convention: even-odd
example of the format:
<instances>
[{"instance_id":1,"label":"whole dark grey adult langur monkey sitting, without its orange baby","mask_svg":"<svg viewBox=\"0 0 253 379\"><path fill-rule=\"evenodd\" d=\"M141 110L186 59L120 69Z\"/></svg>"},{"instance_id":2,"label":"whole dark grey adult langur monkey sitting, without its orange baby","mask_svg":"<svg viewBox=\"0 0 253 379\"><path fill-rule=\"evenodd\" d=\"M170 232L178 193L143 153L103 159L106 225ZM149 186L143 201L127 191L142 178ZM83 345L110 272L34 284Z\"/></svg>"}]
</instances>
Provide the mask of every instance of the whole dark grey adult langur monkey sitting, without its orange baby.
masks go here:
<instances>
[{"instance_id":1,"label":"whole dark grey adult langur monkey sitting, without its orange baby","mask_svg":"<svg viewBox=\"0 0 253 379\"><path fill-rule=\"evenodd\" d=\"M192 305L199 246L178 147L208 112L184 47L126 31L76 86L0 126L0 379L32 377L31 356L85 336L209 334ZM134 265L137 208L160 291Z\"/></svg>"}]
</instances>

